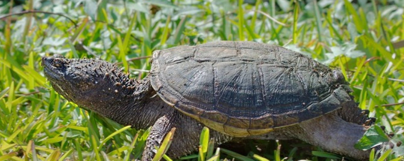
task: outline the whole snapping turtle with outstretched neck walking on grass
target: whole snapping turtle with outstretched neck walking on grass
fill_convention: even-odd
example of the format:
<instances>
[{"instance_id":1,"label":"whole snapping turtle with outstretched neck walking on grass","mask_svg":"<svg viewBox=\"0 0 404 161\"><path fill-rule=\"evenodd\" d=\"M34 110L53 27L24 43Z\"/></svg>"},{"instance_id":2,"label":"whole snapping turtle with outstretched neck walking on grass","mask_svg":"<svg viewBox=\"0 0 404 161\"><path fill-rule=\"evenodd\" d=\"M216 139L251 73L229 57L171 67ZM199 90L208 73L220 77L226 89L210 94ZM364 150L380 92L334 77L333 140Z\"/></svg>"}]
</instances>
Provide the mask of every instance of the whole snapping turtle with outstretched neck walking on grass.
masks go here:
<instances>
[{"instance_id":1,"label":"whole snapping turtle with outstretched neck walking on grass","mask_svg":"<svg viewBox=\"0 0 404 161\"><path fill-rule=\"evenodd\" d=\"M349 95L340 71L283 47L219 41L153 53L150 73L129 78L98 59L43 57L44 74L67 100L123 125L152 126L142 160L155 155L176 127L167 154L196 149L203 126L220 144L247 139L298 138L342 155L369 125L368 111Z\"/></svg>"}]
</instances>

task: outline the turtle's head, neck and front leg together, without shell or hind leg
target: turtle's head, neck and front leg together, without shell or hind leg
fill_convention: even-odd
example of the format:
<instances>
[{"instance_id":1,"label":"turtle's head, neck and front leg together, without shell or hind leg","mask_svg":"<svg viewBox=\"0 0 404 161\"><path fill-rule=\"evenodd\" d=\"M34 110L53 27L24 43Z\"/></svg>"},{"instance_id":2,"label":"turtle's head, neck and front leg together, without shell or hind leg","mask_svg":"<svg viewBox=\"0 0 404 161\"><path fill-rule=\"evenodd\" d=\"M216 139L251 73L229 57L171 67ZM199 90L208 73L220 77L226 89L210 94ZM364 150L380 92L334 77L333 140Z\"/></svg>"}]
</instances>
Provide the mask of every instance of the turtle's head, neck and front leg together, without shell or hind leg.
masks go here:
<instances>
[{"instance_id":1,"label":"turtle's head, neck and front leg together, without shell or hind leg","mask_svg":"<svg viewBox=\"0 0 404 161\"><path fill-rule=\"evenodd\" d=\"M142 160L151 160L155 146L176 127L167 154L173 158L194 151L203 128L196 120L168 106L150 86L149 77L136 81L112 63L96 59L66 59L60 55L43 57L44 74L55 91L67 100L122 125L136 129L152 126ZM217 144L232 137L211 132Z\"/></svg>"}]
</instances>

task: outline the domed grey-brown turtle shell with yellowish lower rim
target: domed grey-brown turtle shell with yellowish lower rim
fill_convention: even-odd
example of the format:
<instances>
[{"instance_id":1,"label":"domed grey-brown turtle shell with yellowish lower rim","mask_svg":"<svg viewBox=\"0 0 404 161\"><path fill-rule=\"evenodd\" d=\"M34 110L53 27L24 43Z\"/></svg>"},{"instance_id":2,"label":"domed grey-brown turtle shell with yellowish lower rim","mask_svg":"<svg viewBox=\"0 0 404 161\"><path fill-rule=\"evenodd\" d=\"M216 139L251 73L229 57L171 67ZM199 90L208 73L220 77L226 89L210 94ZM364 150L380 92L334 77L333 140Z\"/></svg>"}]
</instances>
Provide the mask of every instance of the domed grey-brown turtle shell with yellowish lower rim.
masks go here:
<instances>
[{"instance_id":1,"label":"domed grey-brown turtle shell with yellowish lower rim","mask_svg":"<svg viewBox=\"0 0 404 161\"><path fill-rule=\"evenodd\" d=\"M151 86L169 105L232 135L259 135L350 101L345 79L280 46L219 41L153 53Z\"/></svg>"}]
</instances>

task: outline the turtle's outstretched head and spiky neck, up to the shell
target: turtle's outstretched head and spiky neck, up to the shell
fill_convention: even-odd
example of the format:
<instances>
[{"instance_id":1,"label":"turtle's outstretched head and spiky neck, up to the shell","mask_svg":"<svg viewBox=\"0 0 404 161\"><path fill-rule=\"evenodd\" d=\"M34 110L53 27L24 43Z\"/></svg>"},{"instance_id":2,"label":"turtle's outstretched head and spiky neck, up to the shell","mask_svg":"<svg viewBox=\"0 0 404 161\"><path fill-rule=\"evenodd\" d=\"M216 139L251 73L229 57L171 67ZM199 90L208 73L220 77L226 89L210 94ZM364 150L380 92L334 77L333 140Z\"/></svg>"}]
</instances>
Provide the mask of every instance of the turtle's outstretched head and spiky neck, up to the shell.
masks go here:
<instances>
[{"instance_id":1,"label":"turtle's outstretched head and spiky neck, up to the shell","mask_svg":"<svg viewBox=\"0 0 404 161\"><path fill-rule=\"evenodd\" d=\"M65 99L124 125L134 125L135 119L130 118L143 115L131 108L144 104L131 106L134 102L155 95L148 78L146 81L131 79L107 61L54 55L42 57L42 66L54 90Z\"/></svg>"}]
</instances>

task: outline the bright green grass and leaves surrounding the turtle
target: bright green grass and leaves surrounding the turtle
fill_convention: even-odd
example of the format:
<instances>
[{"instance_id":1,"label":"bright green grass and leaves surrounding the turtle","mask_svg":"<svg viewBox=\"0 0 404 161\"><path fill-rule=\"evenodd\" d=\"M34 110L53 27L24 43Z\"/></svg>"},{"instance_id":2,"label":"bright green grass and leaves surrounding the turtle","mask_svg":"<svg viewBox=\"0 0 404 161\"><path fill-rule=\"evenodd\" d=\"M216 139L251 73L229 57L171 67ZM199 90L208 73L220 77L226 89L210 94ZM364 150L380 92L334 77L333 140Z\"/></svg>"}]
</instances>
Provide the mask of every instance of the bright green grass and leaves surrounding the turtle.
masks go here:
<instances>
[{"instance_id":1,"label":"bright green grass and leaves surrounding the turtle","mask_svg":"<svg viewBox=\"0 0 404 161\"><path fill-rule=\"evenodd\" d=\"M278 44L340 68L359 107L395 134L387 139L393 144L404 140L404 48L397 43L404 40L402 1L59 2L29 0L14 7L0 2L2 16L37 10L74 22L45 13L0 21L0 160L131 160L141 155L147 129L124 127L67 102L46 82L41 56L61 53L120 62L132 77L141 78L153 50L216 40ZM261 152L251 148L241 155L214 148L208 136L204 130L199 151L183 159L341 160L307 144L274 141ZM400 160L403 146L370 160ZM157 157L169 160L165 147Z\"/></svg>"}]
</instances>

